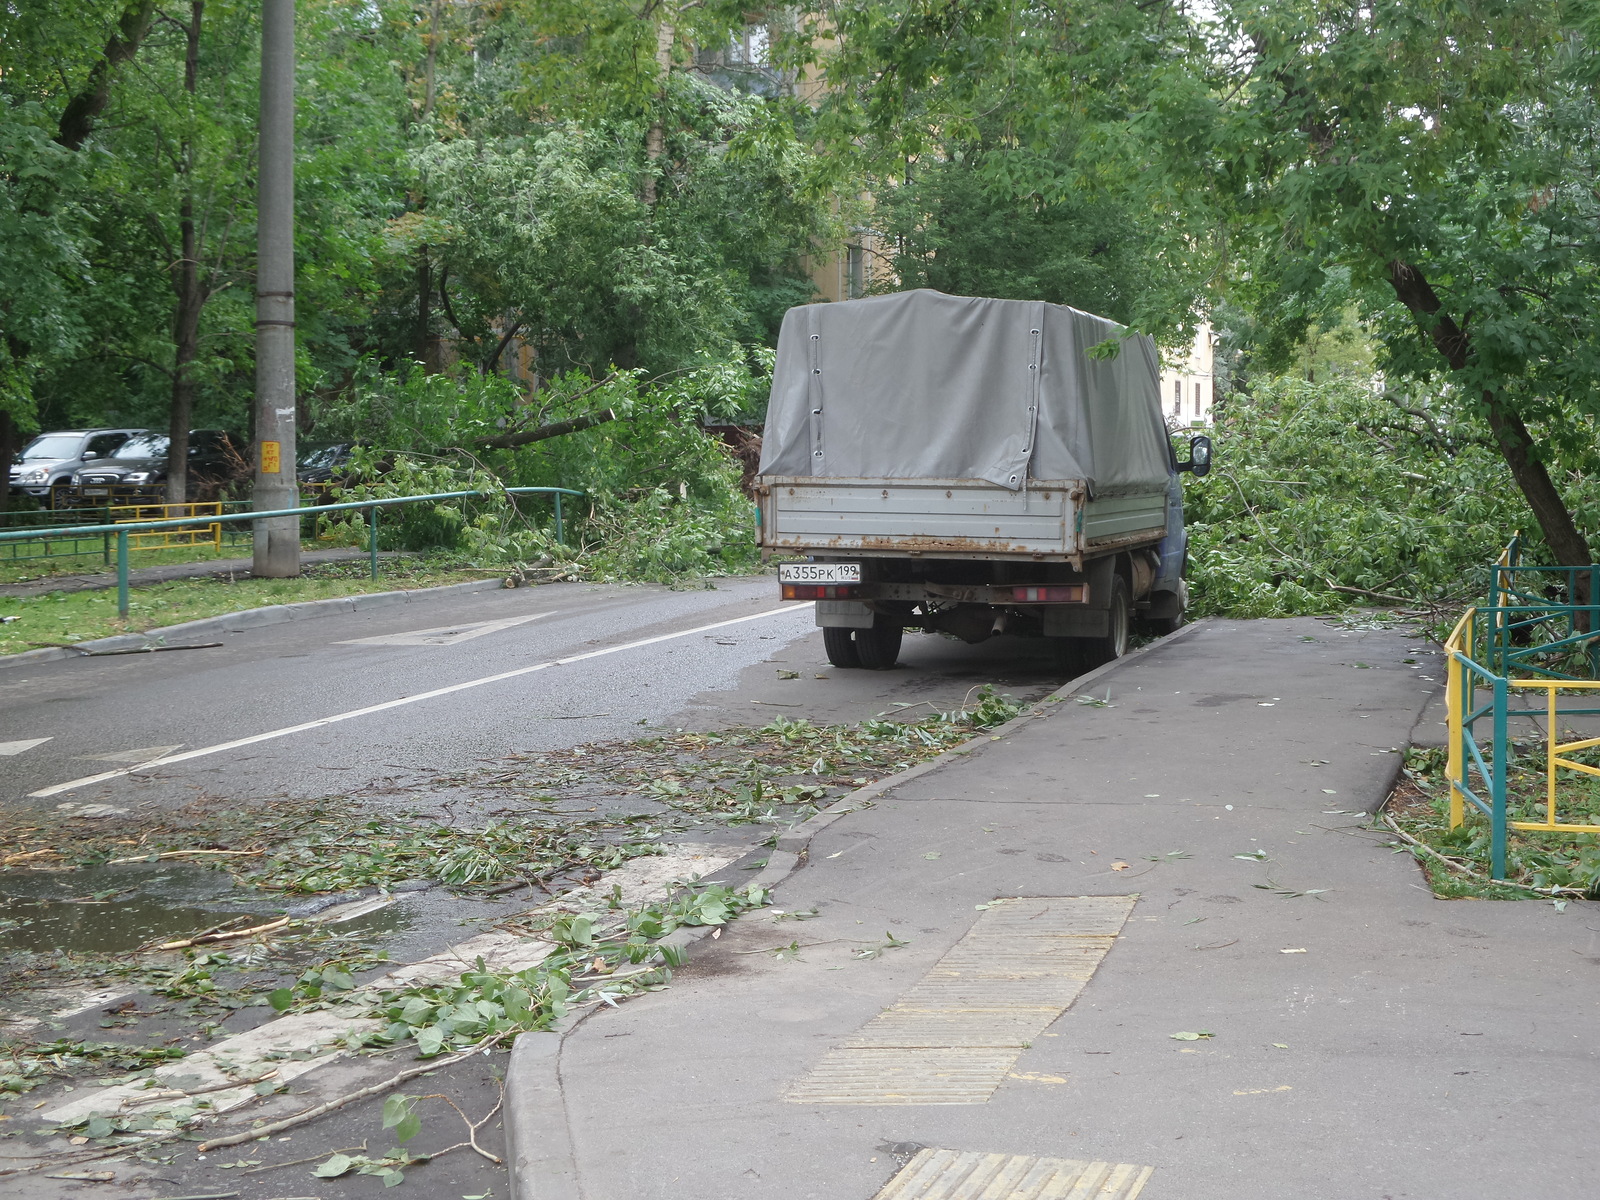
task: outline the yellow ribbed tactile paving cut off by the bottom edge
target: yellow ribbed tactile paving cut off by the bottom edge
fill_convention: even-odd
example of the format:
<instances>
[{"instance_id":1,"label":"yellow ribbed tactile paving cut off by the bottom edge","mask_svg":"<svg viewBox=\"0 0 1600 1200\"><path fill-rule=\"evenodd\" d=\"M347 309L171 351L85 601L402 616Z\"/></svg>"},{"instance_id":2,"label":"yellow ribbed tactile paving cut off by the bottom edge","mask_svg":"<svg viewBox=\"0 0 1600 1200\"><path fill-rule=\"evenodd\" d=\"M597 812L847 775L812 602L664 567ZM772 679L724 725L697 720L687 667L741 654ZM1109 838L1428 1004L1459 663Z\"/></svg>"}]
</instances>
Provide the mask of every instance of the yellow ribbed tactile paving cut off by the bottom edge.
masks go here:
<instances>
[{"instance_id":1,"label":"yellow ribbed tactile paving cut off by the bottom edge","mask_svg":"<svg viewBox=\"0 0 1600 1200\"><path fill-rule=\"evenodd\" d=\"M874 1200L1134 1200L1154 1171L1131 1163L928 1149Z\"/></svg>"}]
</instances>

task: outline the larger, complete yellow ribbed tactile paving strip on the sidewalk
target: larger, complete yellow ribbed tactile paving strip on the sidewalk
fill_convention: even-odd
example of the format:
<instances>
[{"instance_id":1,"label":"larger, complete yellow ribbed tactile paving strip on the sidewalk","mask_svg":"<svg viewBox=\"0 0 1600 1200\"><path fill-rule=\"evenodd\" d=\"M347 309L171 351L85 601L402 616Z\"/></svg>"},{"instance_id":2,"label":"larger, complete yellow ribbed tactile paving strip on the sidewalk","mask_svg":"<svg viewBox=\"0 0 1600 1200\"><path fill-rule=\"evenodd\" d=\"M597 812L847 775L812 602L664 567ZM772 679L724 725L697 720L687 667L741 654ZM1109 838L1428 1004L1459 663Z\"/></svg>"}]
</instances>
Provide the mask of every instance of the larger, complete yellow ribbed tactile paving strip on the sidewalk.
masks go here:
<instances>
[{"instance_id":1,"label":"larger, complete yellow ribbed tactile paving strip on the sidewalk","mask_svg":"<svg viewBox=\"0 0 1600 1200\"><path fill-rule=\"evenodd\" d=\"M1022 1050L1078 998L1136 899L997 902L899 1000L824 1054L786 1099L982 1104Z\"/></svg>"}]
</instances>

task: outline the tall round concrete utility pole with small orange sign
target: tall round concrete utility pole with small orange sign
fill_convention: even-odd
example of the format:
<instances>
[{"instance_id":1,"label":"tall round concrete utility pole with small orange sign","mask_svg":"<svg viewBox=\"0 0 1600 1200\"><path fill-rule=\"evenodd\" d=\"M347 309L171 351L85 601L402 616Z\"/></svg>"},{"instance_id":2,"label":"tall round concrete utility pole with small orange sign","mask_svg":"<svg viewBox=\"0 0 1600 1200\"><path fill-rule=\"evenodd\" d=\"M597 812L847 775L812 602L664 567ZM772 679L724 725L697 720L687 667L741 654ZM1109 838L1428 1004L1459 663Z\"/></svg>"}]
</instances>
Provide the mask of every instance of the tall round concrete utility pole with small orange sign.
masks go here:
<instances>
[{"instance_id":1,"label":"tall round concrete utility pole with small orange sign","mask_svg":"<svg viewBox=\"0 0 1600 1200\"><path fill-rule=\"evenodd\" d=\"M294 0L261 5L261 155L256 198L258 510L299 504L294 478ZM299 518L256 522L251 571L299 574Z\"/></svg>"}]
</instances>

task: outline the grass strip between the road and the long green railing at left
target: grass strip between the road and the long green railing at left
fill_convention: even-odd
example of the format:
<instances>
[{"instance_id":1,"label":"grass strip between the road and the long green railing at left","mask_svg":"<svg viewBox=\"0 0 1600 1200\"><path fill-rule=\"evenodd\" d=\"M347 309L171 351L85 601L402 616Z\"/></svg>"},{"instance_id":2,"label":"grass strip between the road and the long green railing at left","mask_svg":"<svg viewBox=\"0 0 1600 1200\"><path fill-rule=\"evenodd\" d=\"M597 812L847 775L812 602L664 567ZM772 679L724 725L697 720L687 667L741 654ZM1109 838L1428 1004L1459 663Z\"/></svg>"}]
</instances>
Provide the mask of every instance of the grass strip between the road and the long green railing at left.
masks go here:
<instances>
[{"instance_id":1,"label":"grass strip between the road and the long green railing at left","mask_svg":"<svg viewBox=\"0 0 1600 1200\"><path fill-rule=\"evenodd\" d=\"M483 571L462 570L458 562L429 558L386 560L381 570L376 581L368 578L365 562L312 563L299 579L174 579L134 589L126 619L117 616L115 589L0 597L0 618L14 618L0 624L0 654L146 632L246 608L485 578Z\"/></svg>"}]
</instances>

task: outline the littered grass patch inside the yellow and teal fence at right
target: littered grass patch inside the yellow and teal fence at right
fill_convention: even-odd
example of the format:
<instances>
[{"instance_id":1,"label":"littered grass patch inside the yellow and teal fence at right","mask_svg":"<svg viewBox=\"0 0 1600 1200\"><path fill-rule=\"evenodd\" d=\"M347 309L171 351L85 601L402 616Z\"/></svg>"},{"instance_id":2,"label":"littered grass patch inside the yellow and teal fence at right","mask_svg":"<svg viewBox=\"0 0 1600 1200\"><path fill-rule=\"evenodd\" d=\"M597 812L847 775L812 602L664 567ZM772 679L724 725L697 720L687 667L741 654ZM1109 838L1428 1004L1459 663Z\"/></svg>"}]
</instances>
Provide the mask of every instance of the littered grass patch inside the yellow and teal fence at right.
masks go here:
<instances>
[{"instance_id":1,"label":"littered grass patch inside the yellow and teal fence at right","mask_svg":"<svg viewBox=\"0 0 1600 1200\"><path fill-rule=\"evenodd\" d=\"M1600 811L1600 781L1558 779L1563 821L1590 822ZM1544 819L1542 742L1512 744L1507 806L1514 821ZM1533 899L1582 896L1600 899L1600 835L1507 830L1506 880L1490 878L1490 821L1470 805L1458 829L1450 827L1450 786L1443 749L1406 752L1405 771L1384 808L1403 834L1424 848L1413 854L1440 899Z\"/></svg>"}]
</instances>

